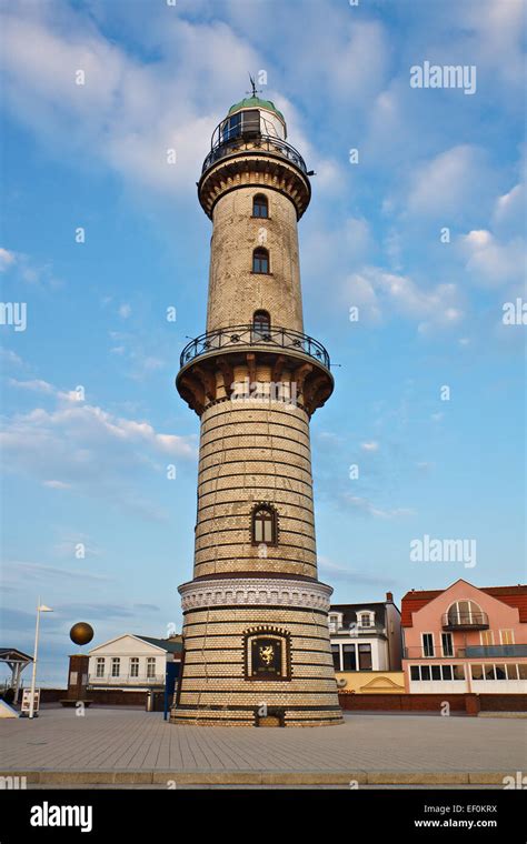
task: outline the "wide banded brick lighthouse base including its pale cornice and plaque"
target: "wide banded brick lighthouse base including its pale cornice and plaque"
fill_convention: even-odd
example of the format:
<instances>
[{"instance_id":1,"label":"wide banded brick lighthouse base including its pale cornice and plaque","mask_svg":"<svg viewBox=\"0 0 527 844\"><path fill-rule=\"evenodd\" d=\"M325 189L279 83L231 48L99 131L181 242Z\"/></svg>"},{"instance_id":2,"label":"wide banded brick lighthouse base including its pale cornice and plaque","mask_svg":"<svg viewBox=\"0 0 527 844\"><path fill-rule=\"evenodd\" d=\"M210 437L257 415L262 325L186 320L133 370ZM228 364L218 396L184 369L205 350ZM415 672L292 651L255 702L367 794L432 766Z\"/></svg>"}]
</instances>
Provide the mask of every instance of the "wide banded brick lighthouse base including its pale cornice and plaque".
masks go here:
<instances>
[{"instance_id":1,"label":"wide banded brick lighthouse base including its pale cornice and plaque","mask_svg":"<svg viewBox=\"0 0 527 844\"><path fill-rule=\"evenodd\" d=\"M179 587L185 655L171 722L342 723L328 631L331 587L309 577L256 574Z\"/></svg>"}]
</instances>

